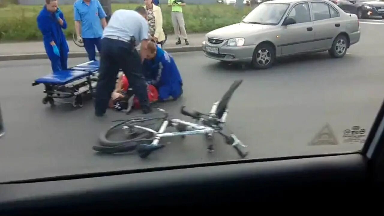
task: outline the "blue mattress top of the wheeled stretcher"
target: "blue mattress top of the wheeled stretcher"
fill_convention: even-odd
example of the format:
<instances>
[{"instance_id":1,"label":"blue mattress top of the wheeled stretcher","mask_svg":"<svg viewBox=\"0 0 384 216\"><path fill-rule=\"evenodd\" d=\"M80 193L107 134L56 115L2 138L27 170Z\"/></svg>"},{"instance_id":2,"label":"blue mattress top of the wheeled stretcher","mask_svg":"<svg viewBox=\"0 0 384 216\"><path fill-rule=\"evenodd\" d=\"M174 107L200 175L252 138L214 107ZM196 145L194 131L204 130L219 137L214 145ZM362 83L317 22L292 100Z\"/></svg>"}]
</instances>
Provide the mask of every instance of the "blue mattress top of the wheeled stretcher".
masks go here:
<instances>
[{"instance_id":1,"label":"blue mattress top of the wheeled stretcher","mask_svg":"<svg viewBox=\"0 0 384 216\"><path fill-rule=\"evenodd\" d=\"M68 70L56 71L35 80L36 84L45 83L52 85L64 85L74 80L91 76L99 69L99 61L89 61L76 65Z\"/></svg>"}]
</instances>

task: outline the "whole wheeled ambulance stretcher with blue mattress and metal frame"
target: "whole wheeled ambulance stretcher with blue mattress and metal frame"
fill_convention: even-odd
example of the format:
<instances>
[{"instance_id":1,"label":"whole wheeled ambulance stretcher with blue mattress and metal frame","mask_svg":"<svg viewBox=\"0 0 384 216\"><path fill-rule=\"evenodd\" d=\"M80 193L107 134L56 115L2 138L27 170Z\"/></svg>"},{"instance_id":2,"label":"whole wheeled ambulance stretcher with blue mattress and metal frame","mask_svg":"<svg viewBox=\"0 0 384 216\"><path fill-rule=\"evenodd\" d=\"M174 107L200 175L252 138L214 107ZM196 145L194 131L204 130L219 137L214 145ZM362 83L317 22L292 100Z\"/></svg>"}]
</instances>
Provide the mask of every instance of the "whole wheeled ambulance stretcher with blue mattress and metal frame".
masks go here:
<instances>
[{"instance_id":1,"label":"whole wheeled ambulance stretcher with blue mattress and metal frame","mask_svg":"<svg viewBox=\"0 0 384 216\"><path fill-rule=\"evenodd\" d=\"M49 75L38 78L32 86L43 84L45 86L43 104L50 103L54 106L55 102L71 103L73 107L83 106L83 94L93 96L98 80L99 61L88 61L76 65L68 70L57 71ZM73 98L72 102L65 100Z\"/></svg>"}]
</instances>

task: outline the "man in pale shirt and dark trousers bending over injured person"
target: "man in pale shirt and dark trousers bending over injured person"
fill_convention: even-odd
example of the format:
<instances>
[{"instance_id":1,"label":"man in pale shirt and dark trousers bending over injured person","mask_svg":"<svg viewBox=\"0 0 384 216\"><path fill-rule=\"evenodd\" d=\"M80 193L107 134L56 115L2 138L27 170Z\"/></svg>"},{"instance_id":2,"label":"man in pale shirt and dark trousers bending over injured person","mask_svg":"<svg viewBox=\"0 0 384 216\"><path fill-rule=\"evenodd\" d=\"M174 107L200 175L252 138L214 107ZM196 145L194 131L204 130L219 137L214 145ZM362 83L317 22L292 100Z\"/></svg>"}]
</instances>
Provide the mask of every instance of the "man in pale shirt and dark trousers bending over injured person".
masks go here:
<instances>
[{"instance_id":1,"label":"man in pale shirt and dark trousers bending over injured person","mask_svg":"<svg viewBox=\"0 0 384 216\"><path fill-rule=\"evenodd\" d=\"M140 102L142 112L150 113L147 84L142 71L149 40L147 12L143 7L135 10L116 10L103 32L100 53L99 79L96 86L95 115L103 116L108 108L116 77L121 68ZM136 46L141 43L140 55Z\"/></svg>"}]
</instances>

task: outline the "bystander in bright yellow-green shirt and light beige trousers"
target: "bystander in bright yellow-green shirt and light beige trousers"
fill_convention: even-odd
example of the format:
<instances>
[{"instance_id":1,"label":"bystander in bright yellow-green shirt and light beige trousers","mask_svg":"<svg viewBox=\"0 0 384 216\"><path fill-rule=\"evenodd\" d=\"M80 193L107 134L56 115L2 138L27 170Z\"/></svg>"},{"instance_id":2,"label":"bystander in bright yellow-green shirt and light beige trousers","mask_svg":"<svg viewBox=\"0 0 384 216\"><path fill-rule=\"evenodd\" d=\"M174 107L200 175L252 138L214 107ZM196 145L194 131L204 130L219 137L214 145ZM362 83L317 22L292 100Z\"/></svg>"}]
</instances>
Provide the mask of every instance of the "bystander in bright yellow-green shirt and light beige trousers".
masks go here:
<instances>
[{"instance_id":1,"label":"bystander in bright yellow-green shirt and light beige trousers","mask_svg":"<svg viewBox=\"0 0 384 216\"><path fill-rule=\"evenodd\" d=\"M183 8L184 0L168 0L168 6L172 7L172 24L176 36L176 45L181 44L181 40L185 41L185 45L189 45L187 31L185 30Z\"/></svg>"}]
</instances>

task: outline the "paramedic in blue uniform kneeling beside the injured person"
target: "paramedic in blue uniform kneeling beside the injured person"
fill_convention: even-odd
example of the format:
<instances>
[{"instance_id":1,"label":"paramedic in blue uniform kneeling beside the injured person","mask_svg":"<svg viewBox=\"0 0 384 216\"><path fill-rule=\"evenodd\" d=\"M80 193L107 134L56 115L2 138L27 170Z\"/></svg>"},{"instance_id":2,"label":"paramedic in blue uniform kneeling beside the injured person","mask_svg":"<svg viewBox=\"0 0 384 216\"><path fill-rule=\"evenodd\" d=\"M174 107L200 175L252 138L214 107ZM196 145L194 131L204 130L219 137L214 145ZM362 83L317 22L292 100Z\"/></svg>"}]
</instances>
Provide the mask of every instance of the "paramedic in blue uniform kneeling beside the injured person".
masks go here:
<instances>
[{"instance_id":1,"label":"paramedic in blue uniform kneeling beside the injured person","mask_svg":"<svg viewBox=\"0 0 384 216\"><path fill-rule=\"evenodd\" d=\"M148 43L143 68L147 83L159 91L159 101L177 100L182 95L183 81L173 57L153 42Z\"/></svg>"}]
</instances>

